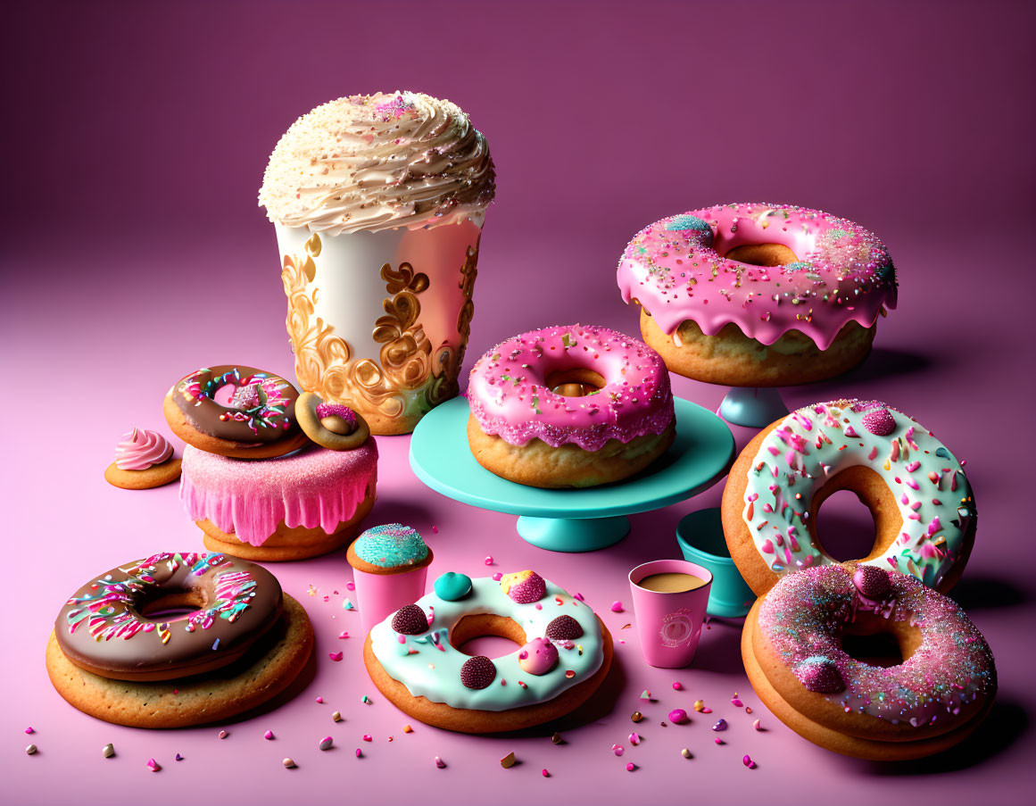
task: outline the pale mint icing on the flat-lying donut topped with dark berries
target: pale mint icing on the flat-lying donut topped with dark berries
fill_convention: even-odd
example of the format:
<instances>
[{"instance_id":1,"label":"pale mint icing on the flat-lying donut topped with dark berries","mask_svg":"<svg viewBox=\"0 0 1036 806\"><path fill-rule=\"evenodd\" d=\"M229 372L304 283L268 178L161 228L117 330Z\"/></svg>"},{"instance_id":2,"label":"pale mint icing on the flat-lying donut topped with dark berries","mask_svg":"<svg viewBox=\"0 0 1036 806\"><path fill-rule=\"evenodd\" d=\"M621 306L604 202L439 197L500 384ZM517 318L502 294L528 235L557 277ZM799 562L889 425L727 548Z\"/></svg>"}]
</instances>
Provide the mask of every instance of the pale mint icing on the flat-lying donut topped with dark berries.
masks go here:
<instances>
[{"instance_id":1,"label":"pale mint icing on the flat-lying donut topped with dark berries","mask_svg":"<svg viewBox=\"0 0 1036 806\"><path fill-rule=\"evenodd\" d=\"M406 686L413 696L453 708L507 711L553 699L563 691L589 679L604 661L600 624L583 602L546 581L546 596L538 602L518 604L489 577L471 580L471 593L449 602L428 594L416 602L425 613L434 614L423 635L399 635L386 618L371 630L371 649L391 677ZM461 667L469 657L450 643L450 631L464 615L496 613L513 618L526 638L542 637L547 625L560 614L578 622L583 634L574 641L555 641L558 662L549 672L536 675L522 670L516 650L492 659L496 667L493 683L484 689L469 689L461 683ZM569 677L569 672L572 675Z\"/></svg>"}]
</instances>

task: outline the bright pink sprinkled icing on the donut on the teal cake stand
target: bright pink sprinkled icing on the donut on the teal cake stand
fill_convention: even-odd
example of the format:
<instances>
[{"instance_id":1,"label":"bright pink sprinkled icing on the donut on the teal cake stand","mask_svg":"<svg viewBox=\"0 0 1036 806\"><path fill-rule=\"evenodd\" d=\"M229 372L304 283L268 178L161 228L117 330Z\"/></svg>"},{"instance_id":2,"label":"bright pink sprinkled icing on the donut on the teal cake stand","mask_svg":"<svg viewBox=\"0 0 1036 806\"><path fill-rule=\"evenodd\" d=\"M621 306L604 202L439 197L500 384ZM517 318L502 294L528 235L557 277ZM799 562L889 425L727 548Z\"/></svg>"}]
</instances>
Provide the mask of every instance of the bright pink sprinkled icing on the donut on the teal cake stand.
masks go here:
<instances>
[{"instance_id":1,"label":"bright pink sprinkled icing on the donut on the teal cake stand","mask_svg":"<svg viewBox=\"0 0 1036 806\"><path fill-rule=\"evenodd\" d=\"M598 373L605 385L584 397L547 387L548 375L573 369ZM674 418L669 374L655 350L580 324L530 330L489 350L471 370L467 396L482 430L516 445L539 438L599 451L609 439L661 434Z\"/></svg>"}]
</instances>

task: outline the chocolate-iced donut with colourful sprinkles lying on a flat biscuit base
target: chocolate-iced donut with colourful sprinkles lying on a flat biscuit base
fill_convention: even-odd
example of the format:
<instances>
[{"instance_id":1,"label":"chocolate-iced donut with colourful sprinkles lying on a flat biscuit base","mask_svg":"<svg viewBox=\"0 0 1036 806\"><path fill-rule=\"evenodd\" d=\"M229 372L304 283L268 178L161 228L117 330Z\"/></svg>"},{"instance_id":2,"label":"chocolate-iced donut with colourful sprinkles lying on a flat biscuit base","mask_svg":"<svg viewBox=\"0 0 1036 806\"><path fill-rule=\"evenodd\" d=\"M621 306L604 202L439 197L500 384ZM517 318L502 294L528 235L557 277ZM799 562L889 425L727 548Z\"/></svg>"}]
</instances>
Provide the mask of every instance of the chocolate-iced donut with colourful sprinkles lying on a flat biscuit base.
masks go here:
<instances>
[{"instance_id":1,"label":"chocolate-iced donut with colourful sprinkles lying on a flat biscuit base","mask_svg":"<svg viewBox=\"0 0 1036 806\"><path fill-rule=\"evenodd\" d=\"M165 621L148 612L195 606ZM55 634L75 665L104 678L185 678L238 660L283 611L281 584L265 569L224 554L163 552L115 568L77 591Z\"/></svg>"}]
</instances>

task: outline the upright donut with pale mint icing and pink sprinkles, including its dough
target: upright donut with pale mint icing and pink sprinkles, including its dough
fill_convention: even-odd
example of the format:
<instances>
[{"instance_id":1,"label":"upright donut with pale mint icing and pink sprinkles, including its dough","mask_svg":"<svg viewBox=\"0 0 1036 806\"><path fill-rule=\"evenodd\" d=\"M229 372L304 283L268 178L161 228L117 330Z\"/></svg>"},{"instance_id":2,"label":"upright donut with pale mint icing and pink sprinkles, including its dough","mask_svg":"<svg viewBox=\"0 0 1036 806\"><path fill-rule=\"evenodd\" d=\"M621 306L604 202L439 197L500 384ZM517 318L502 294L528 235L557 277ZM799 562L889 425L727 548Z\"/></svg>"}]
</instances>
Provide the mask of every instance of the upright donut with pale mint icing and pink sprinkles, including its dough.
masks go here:
<instances>
[{"instance_id":1,"label":"upright donut with pale mint icing and pink sprinkles, including its dough","mask_svg":"<svg viewBox=\"0 0 1036 806\"><path fill-rule=\"evenodd\" d=\"M873 548L858 563L943 593L956 583L977 523L960 462L891 406L836 400L765 428L727 477L723 532L757 596L792 571L836 562L824 551L816 513L838 490L856 493L874 518Z\"/></svg>"}]
</instances>

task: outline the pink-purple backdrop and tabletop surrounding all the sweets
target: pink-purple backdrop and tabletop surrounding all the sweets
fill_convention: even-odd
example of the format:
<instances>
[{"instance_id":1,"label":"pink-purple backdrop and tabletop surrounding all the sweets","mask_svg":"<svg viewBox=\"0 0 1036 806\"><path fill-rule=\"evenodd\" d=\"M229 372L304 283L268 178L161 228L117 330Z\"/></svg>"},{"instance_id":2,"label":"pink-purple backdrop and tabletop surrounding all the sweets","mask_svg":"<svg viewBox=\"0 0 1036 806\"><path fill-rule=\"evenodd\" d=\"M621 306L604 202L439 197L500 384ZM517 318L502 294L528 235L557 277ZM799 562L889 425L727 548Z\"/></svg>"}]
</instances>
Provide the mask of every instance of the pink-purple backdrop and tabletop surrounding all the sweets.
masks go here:
<instances>
[{"instance_id":1,"label":"pink-purple backdrop and tabletop surrounding all the sweets","mask_svg":"<svg viewBox=\"0 0 1036 806\"><path fill-rule=\"evenodd\" d=\"M1024 250L1034 235L1034 24L1032 4L988 1L6 9L0 800L799 803L823 794L843 803L973 804L994 791L1005 803L1031 794L1036 387ZM981 519L954 595L988 637L1001 686L978 736L944 757L898 766L813 747L758 704L737 625L714 622L690 669L644 666L635 629L621 629L632 614L608 607L615 599L629 606L632 566L677 555L677 521L715 503L720 487L635 516L633 535L606 551L551 554L520 541L512 517L426 489L409 470L405 437L378 440L370 522L401 520L424 532L436 553L430 579L534 568L581 592L626 641L600 707L562 728L568 744L551 744L552 728L455 736L386 703L359 660L358 617L341 608L349 579L341 555L274 568L316 627L311 680L283 708L226 726L224 741L220 725L108 725L57 696L42 654L64 597L131 557L201 545L175 487L132 493L104 482L119 435L133 425L165 431L163 395L200 364L291 375L274 230L255 201L267 154L314 105L396 88L462 105L496 162L468 364L536 326L580 320L635 333L613 269L626 240L664 214L793 202L885 239L900 308L882 322L874 354L843 378L785 397L796 405L884 398L969 460ZM674 386L708 406L723 392L683 379ZM751 435L736 431L739 444ZM851 518L859 508L832 508L828 522L859 538ZM343 629L353 637L339 640ZM345 660L329 661L338 650ZM684 689L673 691L673 681ZM658 702L638 699L645 688ZM729 704L735 691L752 717ZM365 693L372 704L361 703ZM711 717L659 725L696 698ZM634 726L638 709L648 718ZM337 725L335 710L345 717ZM709 730L716 717L730 723L723 746ZM754 717L766 732L751 729ZM406 722L413 733L403 733ZM262 738L267 728L272 742ZM634 728L644 738L637 747L627 741ZM327 735L336 749L322 753L317 742ZM30 741L39 746L32 757ZM100 756L107 742L118 753L110 760ZM625 756L609 752L613 743ZM512 750L521 764L502 770L497 760ZM176 752L184 760L174 761ZM745 753L757 769L742 766ZM284 770L284 756L299 769ZM147 770L149 757L162 772ZM628 773L627 761L638 769Z\"/></svg>"}]
</instances>

